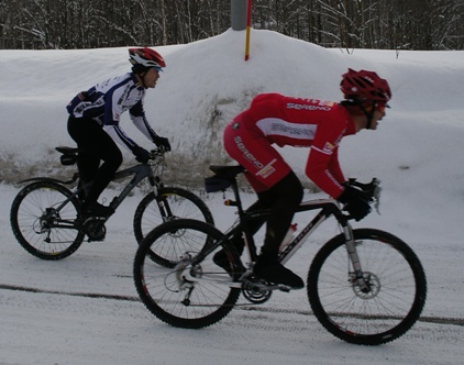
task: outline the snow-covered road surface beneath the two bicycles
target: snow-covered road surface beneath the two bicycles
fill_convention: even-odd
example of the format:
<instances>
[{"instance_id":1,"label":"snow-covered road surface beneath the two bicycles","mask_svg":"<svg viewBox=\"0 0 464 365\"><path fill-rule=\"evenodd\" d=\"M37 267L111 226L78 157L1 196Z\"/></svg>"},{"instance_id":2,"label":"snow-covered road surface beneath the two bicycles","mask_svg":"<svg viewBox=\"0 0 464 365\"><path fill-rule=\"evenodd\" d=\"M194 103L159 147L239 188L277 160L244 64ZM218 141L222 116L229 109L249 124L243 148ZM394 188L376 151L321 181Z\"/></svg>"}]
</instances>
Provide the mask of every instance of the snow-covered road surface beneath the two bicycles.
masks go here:
<instances>
[{"instance_id":1,"label":"snow-covered road surface beneath the two bicycles","mask_svg":"<svg viewBox=\"0 0 464 365\"><path fill-rule=\"evenodd\" d=\"M46 262L26 253L11 233L9 207L16 191L0 186L0 364L462 364L463 320L452 321L462 314L462 250L438 256L422 243L429 276L423 319L387 345L333 338L311 314L305 290L275 292L265 305L234 308L210 328L184 330L158 321L137 298L135 199L108 223L104 242ZM309 246L295 258L301 275L318 244Z\"/></svg>"}]
</instances>

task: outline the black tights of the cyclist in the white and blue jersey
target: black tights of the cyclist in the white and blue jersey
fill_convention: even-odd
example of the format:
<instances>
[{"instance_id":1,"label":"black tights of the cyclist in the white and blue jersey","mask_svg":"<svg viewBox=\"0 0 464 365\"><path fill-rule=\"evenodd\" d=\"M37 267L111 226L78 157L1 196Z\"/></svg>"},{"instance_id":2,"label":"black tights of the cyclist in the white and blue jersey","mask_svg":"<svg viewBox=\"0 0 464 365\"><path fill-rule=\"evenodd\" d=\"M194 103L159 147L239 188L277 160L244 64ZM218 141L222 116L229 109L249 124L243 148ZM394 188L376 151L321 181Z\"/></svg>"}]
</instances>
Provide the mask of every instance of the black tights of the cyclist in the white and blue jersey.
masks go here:
<instances>
[{"instance_id":1,"label":"black tights of the cyclist in the white and blue jersey","mask_svg":"<svg viewBox=\"0 0 464 365\"><path fill-rule=\"evenodd\" d=\"M122 164L122 153L114 141L92 119L68 119L68 133L79 150L77 167L82 181L93 181L86 204L97 201ZM100 163L103 162L100 166Z\"/></svg>"}]
</instances>

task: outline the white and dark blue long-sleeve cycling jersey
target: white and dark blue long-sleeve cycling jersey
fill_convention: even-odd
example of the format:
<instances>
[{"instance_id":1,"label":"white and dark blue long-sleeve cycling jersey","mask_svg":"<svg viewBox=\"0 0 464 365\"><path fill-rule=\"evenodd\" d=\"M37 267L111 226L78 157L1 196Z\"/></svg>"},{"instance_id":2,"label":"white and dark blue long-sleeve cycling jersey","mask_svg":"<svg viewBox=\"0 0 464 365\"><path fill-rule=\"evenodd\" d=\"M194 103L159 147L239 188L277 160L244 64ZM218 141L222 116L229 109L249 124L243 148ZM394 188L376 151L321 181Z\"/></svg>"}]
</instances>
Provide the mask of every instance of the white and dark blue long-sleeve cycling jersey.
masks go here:
<instances>
[{"instance_id":1,"label":"white and dark blue long-sleeve cycling jersey","mask_svg":"<svg viewBox=\"0 0 464 365\"><path fill-rule=\"evenodd\" d=\"M145 88L132 73L99 82L79 92L66 107L74 118L93 119L119 144L133 150L137 144L121 129L121 114L129 110L134 125L153 142L157 136L145 118Z\"/></svg>"}]
</instances>

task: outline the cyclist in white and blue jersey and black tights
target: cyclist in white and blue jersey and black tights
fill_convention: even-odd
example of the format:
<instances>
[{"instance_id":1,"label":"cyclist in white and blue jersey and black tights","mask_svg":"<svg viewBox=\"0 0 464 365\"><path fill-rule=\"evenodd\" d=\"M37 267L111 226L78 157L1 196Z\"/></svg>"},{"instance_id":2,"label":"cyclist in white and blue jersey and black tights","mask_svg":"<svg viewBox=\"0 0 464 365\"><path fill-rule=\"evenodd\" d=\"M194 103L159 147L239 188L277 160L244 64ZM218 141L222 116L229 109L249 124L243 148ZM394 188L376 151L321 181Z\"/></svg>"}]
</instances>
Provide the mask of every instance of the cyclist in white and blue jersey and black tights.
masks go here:
<instances>
[{"instance_id":1,"label":"cyclist in white and blue jersey and black tights","mask_svg":"<svg viewBox=\"0 0 464 365\"><path fill-rule=\"evenodd\" d=\"M132 71L79 92L66 107L68 133L79 151L78 169L82 182L92 181L84 209L95 217L108 217L110 207L97 202L122 164L117 143L129 148L137 162L146 163L148 152L131 140L120 126L121 114L129 111L135 126L158 147L170 151L168 139L159 136L145 118L145 91L154 88L166 63L154 49L130 48ZM101 164L102 162L102 164ZM101 165L100 165L101 164Z\"/></svg>"}]
</instances>

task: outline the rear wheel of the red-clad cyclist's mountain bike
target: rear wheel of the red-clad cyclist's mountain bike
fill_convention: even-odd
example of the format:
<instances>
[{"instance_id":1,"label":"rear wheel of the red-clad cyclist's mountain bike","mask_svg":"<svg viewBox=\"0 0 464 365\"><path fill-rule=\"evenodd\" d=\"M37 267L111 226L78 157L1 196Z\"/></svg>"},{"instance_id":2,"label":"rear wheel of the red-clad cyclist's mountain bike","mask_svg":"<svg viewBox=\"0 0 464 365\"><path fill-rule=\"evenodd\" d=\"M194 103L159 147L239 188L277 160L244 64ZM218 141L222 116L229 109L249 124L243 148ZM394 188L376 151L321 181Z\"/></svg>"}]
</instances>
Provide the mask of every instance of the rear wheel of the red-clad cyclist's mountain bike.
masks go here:
<instances>
[{"instance_id":1,"label":"rear wheel of the red-clad cyclist's mountain bike","mask_svg":"<svg viewBox=\"0 0 464 365\"><path fill-rule=\"evenodd\" d=\"M184 276L184 273L147 259L152 246L158 241L170 240L174 233L176 240L188 241L185 245L188 247L185 256L189 255L194 259L207 247L205 242L210 244L224 237L213 225L189 219L169 221L155 228L141 242L134 259L133 276L139 296L145 307L165 323L186 329L211 325L224 318L239 299L240 288L231 287L231 283L240 275L239 270L232 268L241 267L236 250L225 241L222 247L217 247L202 262L190 267L188 273L195 281L179 281L176 274ZM220 248L224 250L229 257L231 268L228 272L212 262L213 254ZM192 283L188 298L190 289L180 288L179 283Z\"/></svg>"}]
</instances>

